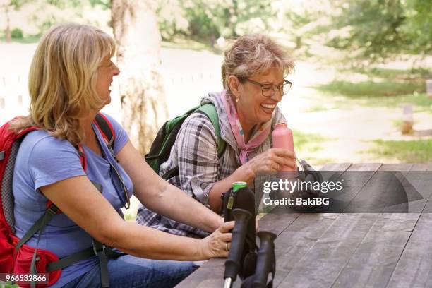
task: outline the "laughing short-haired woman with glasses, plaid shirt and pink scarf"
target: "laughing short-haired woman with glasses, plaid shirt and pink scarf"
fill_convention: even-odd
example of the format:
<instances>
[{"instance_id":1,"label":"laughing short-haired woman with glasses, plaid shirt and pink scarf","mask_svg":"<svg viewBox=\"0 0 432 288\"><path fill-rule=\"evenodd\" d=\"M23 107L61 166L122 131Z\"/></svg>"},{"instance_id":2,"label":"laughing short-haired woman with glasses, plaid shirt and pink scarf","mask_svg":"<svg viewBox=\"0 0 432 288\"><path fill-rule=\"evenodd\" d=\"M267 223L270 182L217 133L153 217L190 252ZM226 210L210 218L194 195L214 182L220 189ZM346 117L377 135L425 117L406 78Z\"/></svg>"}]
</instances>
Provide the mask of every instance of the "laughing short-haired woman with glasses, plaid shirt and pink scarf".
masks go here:
<instances>
[{"instance_id":1,"label":"laughing short-haired woman with glasses, plaid shirt and pink scarf","mask_svg":"<svg viewBox=\"0 0 432 288\"><path fill-rule=\"evenodd\" d=\"M272 128L284 122L277 107L292 83L284 79L294 62L279 44L264 35L239 37L224 52L222 92L210 93L201 104L215 105L220 136L227 145L217 155L217 136L210 119L200 113L181 126L171 155L160 166L160 175L179 167L169 183L215 211L220 212L222 193L234 181L246 181L255 192L256 210L263 195L263 182L282 166L296 167L293 152L271 148ZM200 217L196 213L196 217ZM137 222L172 234L201 238L202 229L157 215L145 206Z\"/></svg>"}]
</instances>

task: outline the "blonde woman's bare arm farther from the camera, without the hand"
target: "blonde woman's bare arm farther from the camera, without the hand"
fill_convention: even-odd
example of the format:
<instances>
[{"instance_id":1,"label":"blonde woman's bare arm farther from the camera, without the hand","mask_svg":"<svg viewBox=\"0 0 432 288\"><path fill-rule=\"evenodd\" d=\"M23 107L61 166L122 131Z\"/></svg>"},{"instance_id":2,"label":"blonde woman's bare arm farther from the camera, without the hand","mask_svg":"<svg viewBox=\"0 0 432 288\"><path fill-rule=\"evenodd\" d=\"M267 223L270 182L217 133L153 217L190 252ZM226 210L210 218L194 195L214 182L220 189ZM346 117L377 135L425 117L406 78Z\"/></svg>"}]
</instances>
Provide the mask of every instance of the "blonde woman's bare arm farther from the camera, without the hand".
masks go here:
<instances>
[{"instance_id":1,"label":"blonde woman's bare arm farther from the camera, without the hand","mask_svg":"<svg viewBox=\"0 0 432 288\"><path fill-rule=\"evenodd\" d=\"M128 141L116 156L131 177L134 195L150 210L184 224L213 232L222 218L157 175ZM197 217L199 215L199 217Z\"/></svg>"}]
</instances>

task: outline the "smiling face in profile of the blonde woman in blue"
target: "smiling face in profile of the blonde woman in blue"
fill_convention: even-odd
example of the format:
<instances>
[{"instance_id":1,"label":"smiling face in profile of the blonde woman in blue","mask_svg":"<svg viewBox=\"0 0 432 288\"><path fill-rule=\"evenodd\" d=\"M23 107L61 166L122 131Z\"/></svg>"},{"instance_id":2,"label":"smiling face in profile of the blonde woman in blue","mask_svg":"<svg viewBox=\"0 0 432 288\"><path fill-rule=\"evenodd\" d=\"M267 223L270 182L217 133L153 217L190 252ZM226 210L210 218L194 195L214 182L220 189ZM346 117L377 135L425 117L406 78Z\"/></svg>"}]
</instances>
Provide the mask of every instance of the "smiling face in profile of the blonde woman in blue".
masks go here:
<instances>
[{"instance_id":1,"label":"smiling face in profile of the blonde woman in blue","mask_svg":"<svg viewBox=\"0 0 432 288\"><path fill-rule=\"evenodd\" d=\"M96 92L105 105L111 102L111 89L109 88L112 83L112 78L119 75L119 73L119 67L112 63L109 58L104 59L99 68L97 68Z\"/></svg>"}]
</instances>

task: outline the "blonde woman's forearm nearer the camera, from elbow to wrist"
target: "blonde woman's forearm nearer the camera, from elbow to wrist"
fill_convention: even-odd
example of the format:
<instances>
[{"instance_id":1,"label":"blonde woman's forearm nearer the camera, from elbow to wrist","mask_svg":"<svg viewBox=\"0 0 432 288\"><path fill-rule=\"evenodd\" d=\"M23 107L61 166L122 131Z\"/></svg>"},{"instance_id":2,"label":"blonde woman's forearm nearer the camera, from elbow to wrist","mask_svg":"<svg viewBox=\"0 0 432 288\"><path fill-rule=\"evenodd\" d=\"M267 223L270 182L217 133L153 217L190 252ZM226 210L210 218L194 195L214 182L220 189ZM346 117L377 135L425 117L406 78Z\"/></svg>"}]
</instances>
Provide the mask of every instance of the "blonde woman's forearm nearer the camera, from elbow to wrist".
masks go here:
<instances>
[{"instance_id":1,"label":"blonde woman's forearm nearer the camera, from elbow to wrist","mask_svg":"<svg viewBox=\"0 0 432 288\"><path fill-rule=\"evenodd\" d=\"M124 222L106 243L133 256L160 260L206 260L198 239L168 234L157 229Z\"/></svg>"}]
</instances>

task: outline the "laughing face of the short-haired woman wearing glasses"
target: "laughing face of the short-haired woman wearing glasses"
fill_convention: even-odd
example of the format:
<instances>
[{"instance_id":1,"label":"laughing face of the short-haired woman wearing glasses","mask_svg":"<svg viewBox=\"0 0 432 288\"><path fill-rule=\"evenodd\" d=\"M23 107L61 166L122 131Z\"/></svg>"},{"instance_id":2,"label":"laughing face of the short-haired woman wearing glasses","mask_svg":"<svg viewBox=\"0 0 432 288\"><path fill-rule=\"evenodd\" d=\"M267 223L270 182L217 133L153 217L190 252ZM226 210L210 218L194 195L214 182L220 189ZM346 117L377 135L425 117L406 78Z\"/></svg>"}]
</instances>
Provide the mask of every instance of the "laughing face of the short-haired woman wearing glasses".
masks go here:
<instances>
[{"instance_id":1,"label":"laughing face of the short-haired woman wearing glasses","mask_svg":"<svg viewBox=\"0 0 432 288\"><path fill-rule=\"evenodd\" d=\"M284 81L284 73L277 66L272 66L267 71L256 76L251 76L248 79L262 83L282 85ZM238 99L236 102L239 121L244 131L249 132L256 124L264 123L272 119L273 111L277 103L282 100L280 91L277 90L272 97L264 97L261 92L260 85L251 83L245 80L240 83L235 76L230 76L230 88L234 97Z\"/></svg>"}]
</instances>

